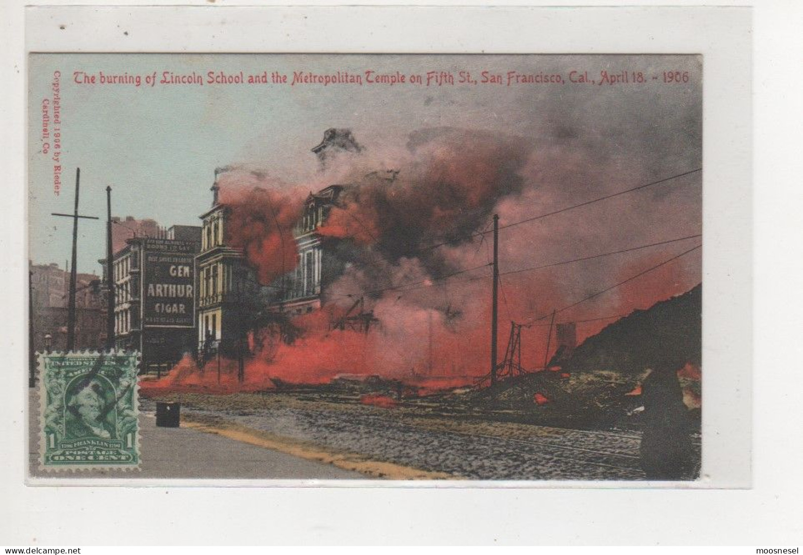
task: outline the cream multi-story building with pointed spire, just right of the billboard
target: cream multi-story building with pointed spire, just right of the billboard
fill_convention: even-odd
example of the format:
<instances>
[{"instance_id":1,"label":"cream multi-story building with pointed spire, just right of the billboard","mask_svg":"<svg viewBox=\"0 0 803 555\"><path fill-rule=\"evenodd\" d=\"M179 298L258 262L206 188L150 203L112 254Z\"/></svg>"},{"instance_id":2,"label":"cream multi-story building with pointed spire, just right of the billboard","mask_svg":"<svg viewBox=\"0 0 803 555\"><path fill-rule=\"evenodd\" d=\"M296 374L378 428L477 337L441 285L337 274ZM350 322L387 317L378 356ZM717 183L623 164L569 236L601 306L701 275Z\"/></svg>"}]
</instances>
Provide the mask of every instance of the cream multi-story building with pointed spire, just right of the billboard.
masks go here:
<instances>
[{"instance_id":1,"label":"cream multi-story building with pointed spire, just right of the billboard","mask_svg":"<svg viewBox=\"0 0 803 555\"><path fill-rule=\"evenodd\" d=\"M217 173L216 173L217 176ZM210 353L242 354L247 333L260 308L262 290L243 251L227 244L230 207L218 200L218 183L211 188L212 207L201 214L201 251L195 257L198 274L197 349Z\"/></svg>"}]
</instances>

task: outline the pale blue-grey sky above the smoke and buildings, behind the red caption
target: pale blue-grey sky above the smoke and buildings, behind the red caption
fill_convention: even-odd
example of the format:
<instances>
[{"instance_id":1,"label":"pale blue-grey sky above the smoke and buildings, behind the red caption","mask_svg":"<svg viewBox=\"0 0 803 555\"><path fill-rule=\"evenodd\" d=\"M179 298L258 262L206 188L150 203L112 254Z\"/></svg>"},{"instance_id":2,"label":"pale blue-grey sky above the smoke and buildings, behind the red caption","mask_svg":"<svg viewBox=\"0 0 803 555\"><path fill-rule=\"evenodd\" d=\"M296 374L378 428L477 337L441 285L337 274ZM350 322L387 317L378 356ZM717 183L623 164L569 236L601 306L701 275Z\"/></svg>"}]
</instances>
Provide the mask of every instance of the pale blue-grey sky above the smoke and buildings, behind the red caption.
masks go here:
<instances>
[{"instance_id":1,"label":"pale blue-grey sky above the smoke and buildings, behind the red caption","mask_svg":"<svg viewBox=\"0 0 803 555\"><path fill-rule=\"evenodd\" d=\"M64 263L70 257L75 167L81 168L81 212L101 218L79 224L79 270L100 271L104 256L105 187L112 213L153 218L163 226L198 224L210 204L217 166L258 165L288 182L317 169L309 149L330 127L353 130L368 149L403 148L410 133L452 126L509 133L551 145L568 133L600 156L616 155L669 175L699 165L701 71L694 56L421 56L421 55L31 55L29 214L31 259ZM292 74L366 69L422 73L485 69L568 72L640 69L690 71L687 84L658 81L640 87L520 85L81 85L73 71L150 75L157 71ZM52 161L41 152L42 99L61 71L63 190L53 194ZM691 140L690 140L691 138Z\"/></svg>"}]
</instances>

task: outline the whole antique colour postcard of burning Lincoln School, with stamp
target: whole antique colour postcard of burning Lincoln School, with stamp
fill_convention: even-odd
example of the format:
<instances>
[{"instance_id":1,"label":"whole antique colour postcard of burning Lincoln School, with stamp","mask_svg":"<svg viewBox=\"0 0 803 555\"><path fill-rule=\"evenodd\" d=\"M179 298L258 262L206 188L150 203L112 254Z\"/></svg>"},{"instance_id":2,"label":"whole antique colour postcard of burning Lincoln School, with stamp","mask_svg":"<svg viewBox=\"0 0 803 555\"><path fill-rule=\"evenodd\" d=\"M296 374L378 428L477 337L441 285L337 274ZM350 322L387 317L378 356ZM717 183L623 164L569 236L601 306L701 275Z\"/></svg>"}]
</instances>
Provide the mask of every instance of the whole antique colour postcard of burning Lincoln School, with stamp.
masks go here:
<instances>
[{"instance_id":1,"label":"whole antique colour postcard of burning Lincoln School, with stamp","mask_svg":"<svg viewBox=\"0 0 803 555\"><path fill-rule=\"evenodd\" d=\"M28 63L31 477L699 480L703 56Z\"/></svg>"}]
</instances>

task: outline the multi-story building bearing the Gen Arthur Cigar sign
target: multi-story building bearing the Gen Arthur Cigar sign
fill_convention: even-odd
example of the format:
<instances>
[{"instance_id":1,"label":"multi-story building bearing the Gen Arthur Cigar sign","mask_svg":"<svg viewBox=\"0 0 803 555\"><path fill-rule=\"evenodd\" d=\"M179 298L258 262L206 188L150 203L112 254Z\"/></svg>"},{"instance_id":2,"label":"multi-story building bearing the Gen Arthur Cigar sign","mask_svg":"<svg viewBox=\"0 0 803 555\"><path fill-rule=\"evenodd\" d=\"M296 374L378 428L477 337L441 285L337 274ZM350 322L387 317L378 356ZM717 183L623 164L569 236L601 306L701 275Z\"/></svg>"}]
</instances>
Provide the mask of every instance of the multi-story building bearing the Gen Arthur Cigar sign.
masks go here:
<instances>
[{"instance_id":1,"label":"multi-story building bearing the Gen Arthur Cigar sign","mask_svg":"<svg viewBox=\"0 0 803 555\"><path fill-rule=\"evenodd\" d=\"M201 228L173 226L156 235L127 239L112 263L115 345L140 351L143 372L169 369L195 342Z\"/></svg>"}]
</instances>

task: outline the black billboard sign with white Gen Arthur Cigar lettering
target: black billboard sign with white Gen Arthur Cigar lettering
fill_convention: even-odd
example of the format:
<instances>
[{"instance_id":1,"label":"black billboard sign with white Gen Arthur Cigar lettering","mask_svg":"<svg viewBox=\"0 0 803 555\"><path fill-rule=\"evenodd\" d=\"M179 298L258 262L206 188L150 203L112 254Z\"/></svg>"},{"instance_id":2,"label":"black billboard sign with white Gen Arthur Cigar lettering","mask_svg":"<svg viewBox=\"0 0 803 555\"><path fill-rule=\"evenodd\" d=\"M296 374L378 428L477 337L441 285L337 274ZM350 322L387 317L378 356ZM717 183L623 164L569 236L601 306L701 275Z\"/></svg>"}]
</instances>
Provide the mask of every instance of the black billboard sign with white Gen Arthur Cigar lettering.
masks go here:
<instances>
[{"instance_id":1,"label":"black billboard sign with white Gen Arthur Cigar lettering","mask_svg":"<svg viewBox=\"0 0 803 555\"><path fill-rule=\"evenodd\" d=\"M142 324L192 328L195 322L194 259L197 243L146 239L142 265Z\"/></svg>"}]
</instances>

